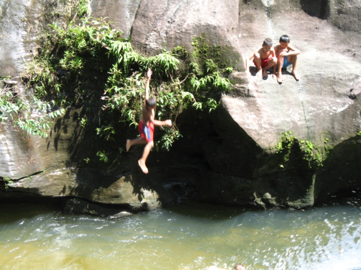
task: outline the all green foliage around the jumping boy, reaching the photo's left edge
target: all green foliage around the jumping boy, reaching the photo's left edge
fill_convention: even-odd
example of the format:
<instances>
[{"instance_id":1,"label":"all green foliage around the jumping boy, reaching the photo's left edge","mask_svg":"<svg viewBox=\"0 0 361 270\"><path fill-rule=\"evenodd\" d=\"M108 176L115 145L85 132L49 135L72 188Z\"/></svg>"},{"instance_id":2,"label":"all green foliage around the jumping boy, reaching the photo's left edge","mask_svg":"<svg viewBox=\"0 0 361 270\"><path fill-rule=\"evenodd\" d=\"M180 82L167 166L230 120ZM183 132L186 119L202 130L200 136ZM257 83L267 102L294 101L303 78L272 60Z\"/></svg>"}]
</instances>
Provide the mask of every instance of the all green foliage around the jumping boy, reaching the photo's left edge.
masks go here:
<instances>
[{"instance_id":1,"label":"all green foliage around the jumping boy, reaching the photo's left edge","mask_svg":"<svg viewBox=\"0 0 361 270\"><path fill-rule=\"evenodd\" d=\"M77 1L75 8L67 9L65 17L71 18L74 11L73 19L87 14L87 3ZM28 62L22 75L28 89L34 92L34 100L25 101L8 88L8 94L0 98L0 121L16 114L16 125L43 137L50 128L44 115L59 117L67 106L82 104L95 108L93 113L102 114L97 134L114 140L120 125L136 127L142 118L144 72L148 68L153 70L151 96L157 100L157 118L170 118L174 123L161 131L157 150L169 150L174 140L182 136L177 117L183 110L210 112L218 107L221 93L228 91L226 76L232 68L220 69L216 59L210 58L198 63L187 61L186 69L180 72L180 59L188 57L184 48L178 46L155 56L142 55L110 23L107 18L87 17L48 25L39 54ZM29 116L32 111L39 113L37 119ZM82 118L81 126L90 126L89 120ZM97 152L97 156L108 161L105 151Z\"/></svg>"}]
</instances>

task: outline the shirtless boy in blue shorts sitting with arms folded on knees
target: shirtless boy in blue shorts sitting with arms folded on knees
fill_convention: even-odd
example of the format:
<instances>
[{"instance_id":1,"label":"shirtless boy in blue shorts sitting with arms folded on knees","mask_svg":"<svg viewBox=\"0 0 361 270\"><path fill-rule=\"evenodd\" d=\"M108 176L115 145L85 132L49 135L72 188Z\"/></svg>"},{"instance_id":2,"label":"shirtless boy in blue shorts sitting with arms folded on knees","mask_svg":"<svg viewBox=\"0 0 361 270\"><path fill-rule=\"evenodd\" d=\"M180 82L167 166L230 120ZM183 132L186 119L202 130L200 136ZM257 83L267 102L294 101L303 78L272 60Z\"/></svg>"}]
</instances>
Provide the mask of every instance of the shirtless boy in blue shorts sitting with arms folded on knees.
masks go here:
<instances>
[{"instance_id":1,"label":"shirtless boy in blue shorts sitting with arms folded on knees","mask_svg":"<svg viewBox=\"0 0 361 270\"><path fill-rule=\"evenodd\" d=\"M296 73L297 55L300 51L293 46L289 45L289 36L282 35L280 37L280 45L275 46L275 53L277 57L277 82L282 83L282 68L292 64L292 75L296 81L300 80L299 74ZM276 67L275 67L276 69Z\"/></svg>"}]
</instances>

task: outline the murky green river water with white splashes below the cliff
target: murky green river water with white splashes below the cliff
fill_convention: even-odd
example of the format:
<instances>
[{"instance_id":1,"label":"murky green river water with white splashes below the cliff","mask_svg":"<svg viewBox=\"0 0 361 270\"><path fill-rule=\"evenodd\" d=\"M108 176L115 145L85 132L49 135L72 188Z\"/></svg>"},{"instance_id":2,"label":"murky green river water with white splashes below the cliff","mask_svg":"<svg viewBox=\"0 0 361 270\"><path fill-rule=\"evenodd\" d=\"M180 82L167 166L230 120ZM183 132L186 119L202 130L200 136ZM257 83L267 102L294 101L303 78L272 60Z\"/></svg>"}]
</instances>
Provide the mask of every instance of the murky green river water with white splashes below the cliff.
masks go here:
<instances>
[{"instance_id":1,"label":"murky green river water with white splashes below the cliff","mask_svg":"<svg viewBox=\"0 0 361 270\"><path fill-rule=\"evenodd\" d=\"M352 203L352 202L350 202ZM180 205L122 219L0 204L0 269L361 269L361 207Z\"/></svg>"}]
</instances>

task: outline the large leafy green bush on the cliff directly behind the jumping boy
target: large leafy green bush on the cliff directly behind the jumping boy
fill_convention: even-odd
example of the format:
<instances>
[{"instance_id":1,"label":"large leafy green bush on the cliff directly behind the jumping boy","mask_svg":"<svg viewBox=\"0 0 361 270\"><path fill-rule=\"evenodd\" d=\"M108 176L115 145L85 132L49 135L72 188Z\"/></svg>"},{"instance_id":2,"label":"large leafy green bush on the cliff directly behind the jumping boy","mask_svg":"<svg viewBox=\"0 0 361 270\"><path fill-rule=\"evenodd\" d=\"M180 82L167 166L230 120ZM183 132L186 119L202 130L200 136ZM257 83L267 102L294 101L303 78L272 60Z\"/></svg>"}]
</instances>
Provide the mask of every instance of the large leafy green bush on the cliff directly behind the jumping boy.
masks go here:
<instances>
[{"instance_id":1,"label":"large leafy green bush on the cliff directly behind the jumping boy","mask_svg":"<svg viewBox=\"0 0 361 270\"><path fill-rule=\"evenodd\" d=\"M208 108L210 112L219 106L217 100L230 85L223 75L225 71L219 69L213 59L206 59L201 66L188 62L186 73L179 72L177 57L185 57L185 49L176 47L172 52L142 55L122 38L120 30L111 28L110 23L107 18L88 17L77 25L72 21L61 27L56 23L49 25L51 31L43 44L43 53L27 69L29 85L34 87L39 98L51 96L58 103L60 100L70 103L77 95L89 94L89 89L76 90L77 85L87 80L89 69L97 73L108 70L104 93L100 94L100 101L97 100L107 117L96 132L106 140L113 140L116 123L137 126L141 120L144 72L151 68L151 96L157 99L157 117L160 120L171 118L175 123L162 130L162 137L156 142L157 148L169 150L181 136L176 120L184 109ZM207 50L205 43L202 46L202 50ZM109 66L104 64L105 57L111 63ZM25 124L31 126L31 123Z\"/></svg>"}]
</instances>

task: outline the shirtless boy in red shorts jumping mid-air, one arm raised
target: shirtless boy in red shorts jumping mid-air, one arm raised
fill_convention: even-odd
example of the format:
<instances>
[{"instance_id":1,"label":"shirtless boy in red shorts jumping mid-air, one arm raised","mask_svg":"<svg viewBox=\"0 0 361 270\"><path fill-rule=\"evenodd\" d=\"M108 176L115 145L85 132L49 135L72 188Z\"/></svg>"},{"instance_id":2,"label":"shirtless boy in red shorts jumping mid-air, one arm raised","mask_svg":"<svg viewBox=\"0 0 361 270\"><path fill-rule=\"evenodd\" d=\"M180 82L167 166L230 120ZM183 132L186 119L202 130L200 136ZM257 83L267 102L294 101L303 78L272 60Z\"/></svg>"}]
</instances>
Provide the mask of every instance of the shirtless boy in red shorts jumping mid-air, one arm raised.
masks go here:
<instances>
[{"instance_id":1,"label":"shirtless boy in red shorts jumping mid-air, one arm raised","mask_svg":"<svg viewBox=\"0 0 361 270\"><path fill-rule=\"evenodd\" d=\"M155 98L149 98L149 81L152 75L152 70L149 68L147 71L147 82L145 84L145 101L143 103L143 120L139 122L138 130L141 135L141 138L127 140L126 141L126 151L129 150L130 146L135 144L147 144L144 147L143 156L138 161L139 167L141 167L144 173L148 173L148 168L145 166L145 161L148 158L150 150L154 146L153 142L153 133L154 125L155 126L172 126L171 120L158 121L154 119L154 109L156 107Z\"/></svg>"}]
</instances>

